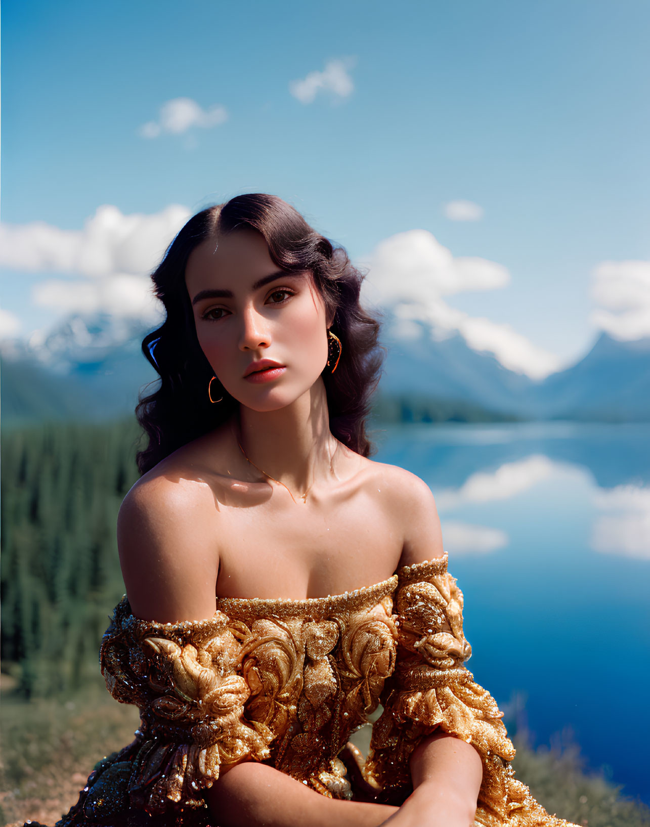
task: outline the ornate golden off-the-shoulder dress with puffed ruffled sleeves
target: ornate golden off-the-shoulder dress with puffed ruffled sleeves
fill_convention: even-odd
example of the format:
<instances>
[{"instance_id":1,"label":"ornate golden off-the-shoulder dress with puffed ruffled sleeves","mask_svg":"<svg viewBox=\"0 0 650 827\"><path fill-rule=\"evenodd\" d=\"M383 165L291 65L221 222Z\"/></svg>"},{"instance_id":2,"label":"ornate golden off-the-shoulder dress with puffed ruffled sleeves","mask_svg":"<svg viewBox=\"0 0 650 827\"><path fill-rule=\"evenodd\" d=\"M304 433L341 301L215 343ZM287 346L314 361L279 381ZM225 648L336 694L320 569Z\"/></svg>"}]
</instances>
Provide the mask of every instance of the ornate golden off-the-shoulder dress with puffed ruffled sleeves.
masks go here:
<instances>
[{"instance_id":1,"label":"ornate golden off-the-shoulder dress with puffed ruffled sleeves","mask_svg":"<svg viewBox=\"0 0 650 827\"><path fill-rule=\"evenodd\" d=\"M98 762L57 827L217 827L202 792L246 758L323 796L367 801L370 791L399 805L413 789L409 757L437 727L482 758L476 825L570 827L514 777L503 713L464 666L462 605L447 555L344 595L217 598L200 621L137 619L124 598L100 661L141 725ZM347 741L378 705L360 762Z\"/></svg>"}]
</instances>

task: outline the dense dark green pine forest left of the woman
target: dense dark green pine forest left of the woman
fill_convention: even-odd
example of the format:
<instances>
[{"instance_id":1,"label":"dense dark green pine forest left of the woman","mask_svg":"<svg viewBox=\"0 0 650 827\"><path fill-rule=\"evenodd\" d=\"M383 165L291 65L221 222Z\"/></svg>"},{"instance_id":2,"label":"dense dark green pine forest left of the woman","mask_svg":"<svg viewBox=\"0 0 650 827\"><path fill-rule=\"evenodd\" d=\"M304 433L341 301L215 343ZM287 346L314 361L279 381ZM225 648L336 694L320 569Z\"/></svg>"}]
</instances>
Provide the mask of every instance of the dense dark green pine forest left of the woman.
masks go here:
<instances>
[{"instance_id":1,"label":"dense dark green pine forest left of the woman","mask_svg":"<svg viewBox=\"0 0 650 827\"><path fill-rule=\"evenodd\" d=\"M26 698L98 679L124 593L115 524L138 438L130 422L2 431L2 671Z\"/></svg>"}]
</instances>

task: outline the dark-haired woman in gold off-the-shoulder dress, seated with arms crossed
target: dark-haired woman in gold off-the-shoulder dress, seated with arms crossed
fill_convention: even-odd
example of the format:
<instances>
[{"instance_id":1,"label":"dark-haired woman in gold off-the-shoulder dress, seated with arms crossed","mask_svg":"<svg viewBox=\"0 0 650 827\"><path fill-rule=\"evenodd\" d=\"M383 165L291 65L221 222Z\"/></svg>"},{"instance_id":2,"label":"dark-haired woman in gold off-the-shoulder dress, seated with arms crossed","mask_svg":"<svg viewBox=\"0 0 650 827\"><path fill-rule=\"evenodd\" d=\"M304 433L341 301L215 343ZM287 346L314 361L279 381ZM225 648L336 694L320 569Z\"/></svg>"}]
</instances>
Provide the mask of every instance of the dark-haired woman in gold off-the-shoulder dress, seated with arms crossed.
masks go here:
<instances>
[{"instance_id":1,"label":"dark-haired woman in gold off-the-shoulder dress, seated with arms crossed","mask_svg":"<svg viewBox=\"0 0 650 827\"><path fill-rule=\"evenodd\" d=\"M101 654L142 724L60 824L566 825L514 780L463 666L433 495L368 459L378 324L345 252L242 195L153 280L161 384ZM347 739L379 703L364 764Z\"/></svg>"}]
</instances>

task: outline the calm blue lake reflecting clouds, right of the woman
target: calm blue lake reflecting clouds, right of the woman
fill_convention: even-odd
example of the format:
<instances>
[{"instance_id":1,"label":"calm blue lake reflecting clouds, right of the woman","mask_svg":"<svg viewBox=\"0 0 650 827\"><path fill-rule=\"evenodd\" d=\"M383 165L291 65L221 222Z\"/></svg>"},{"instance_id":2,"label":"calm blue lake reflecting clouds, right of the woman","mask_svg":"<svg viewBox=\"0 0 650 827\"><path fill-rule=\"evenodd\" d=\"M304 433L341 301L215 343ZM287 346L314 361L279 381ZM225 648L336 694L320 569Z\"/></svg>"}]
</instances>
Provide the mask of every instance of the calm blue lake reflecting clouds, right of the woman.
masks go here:
<instances>
[{"instance_id":1,"label":"calm blue lake reflecting clouds, right of the woman","mask_svg":"<svg viewBox=\"0 0 650 827\"><path fill-rule=\"evenodd\" d=\"M389 426L436 497L467 664L533 743L650 803L650 423Z\"/></svg>"}]
</instances>

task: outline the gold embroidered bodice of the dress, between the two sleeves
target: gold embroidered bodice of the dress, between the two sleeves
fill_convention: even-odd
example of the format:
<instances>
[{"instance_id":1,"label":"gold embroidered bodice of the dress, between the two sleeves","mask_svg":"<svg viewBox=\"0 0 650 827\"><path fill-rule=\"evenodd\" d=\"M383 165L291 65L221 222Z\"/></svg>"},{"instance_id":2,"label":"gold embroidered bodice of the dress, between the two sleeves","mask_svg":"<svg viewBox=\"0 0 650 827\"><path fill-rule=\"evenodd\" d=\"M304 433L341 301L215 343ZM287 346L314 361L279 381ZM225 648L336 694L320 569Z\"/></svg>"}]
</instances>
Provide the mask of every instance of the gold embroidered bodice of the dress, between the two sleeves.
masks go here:
<instances>
[{"instance_id":1,"label":"gold embroidered bodice of the dress, between the two sleeves","mask_svg":"<svg viewBox=\"0 0 650 827\"><path fill-rule=\"evenodd\" d=\"M271 761L324 796L351 795L337 754L379 704L394 669L396 577L307 600L221 598L240 624L244 715L275 732Z\"/></svg>"}]
</instances>

